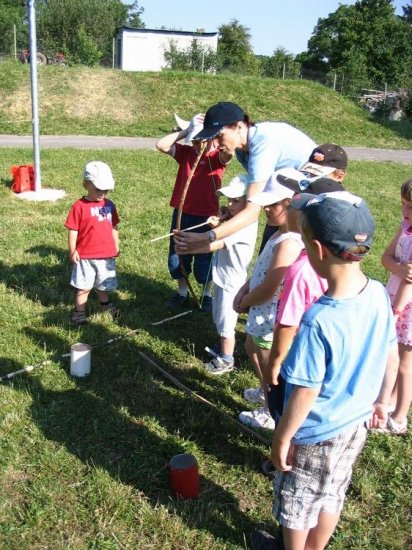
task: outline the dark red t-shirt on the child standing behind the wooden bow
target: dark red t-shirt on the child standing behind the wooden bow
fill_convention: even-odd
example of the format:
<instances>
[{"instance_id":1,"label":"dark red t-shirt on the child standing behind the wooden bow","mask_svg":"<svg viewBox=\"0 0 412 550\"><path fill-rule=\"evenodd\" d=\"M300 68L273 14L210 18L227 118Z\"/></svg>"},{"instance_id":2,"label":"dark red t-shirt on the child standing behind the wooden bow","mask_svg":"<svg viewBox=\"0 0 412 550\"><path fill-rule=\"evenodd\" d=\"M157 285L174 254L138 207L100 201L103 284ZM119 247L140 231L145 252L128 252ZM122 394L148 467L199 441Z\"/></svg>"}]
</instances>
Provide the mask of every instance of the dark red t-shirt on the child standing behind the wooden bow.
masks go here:
<instances>
[{"instance_id":1,"label":"dark red t-shirt on the child standing behind the wooden bow","mask_svg":"<svg viewBox=\"0 0 412 550\"><path fill-rule=\"evenodd\" d=\"M170 206L178 208L185 183L196 161L197 153L193 147L176 143L174 158L179 164L179 170L172 198L170 199ZM222 186L225 168L226 165L220 162L218 149L205 152L202 155L185 198L183 205L185 214L192 214L193 216L215 216L217 214L219 201L216 191Z\"/></svg>"}]
</instances>

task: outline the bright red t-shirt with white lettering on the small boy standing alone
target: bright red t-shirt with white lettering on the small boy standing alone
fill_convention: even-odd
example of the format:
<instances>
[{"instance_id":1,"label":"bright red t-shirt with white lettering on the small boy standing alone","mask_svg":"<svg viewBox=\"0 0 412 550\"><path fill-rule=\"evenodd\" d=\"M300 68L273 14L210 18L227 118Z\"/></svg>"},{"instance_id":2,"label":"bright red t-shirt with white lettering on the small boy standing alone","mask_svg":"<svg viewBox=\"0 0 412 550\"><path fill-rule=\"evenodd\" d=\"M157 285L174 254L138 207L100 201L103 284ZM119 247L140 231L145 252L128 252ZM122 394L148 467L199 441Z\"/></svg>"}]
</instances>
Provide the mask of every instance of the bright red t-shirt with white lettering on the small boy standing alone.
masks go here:
<instances>
[{"instance_id":1,"label":"bright red t-shirt with white lettering on the small boy standing alone","mask_svg":"<svg viewBox=\"0 0 412 550\"><path fill-rule=\"evenodd\" d=\"M64 224L68 229L78 231L76 249L80 258L113 258L117 256L113 227L119 223L119 216L112 201L77 200Z\"/></svg>"}]
</instances>

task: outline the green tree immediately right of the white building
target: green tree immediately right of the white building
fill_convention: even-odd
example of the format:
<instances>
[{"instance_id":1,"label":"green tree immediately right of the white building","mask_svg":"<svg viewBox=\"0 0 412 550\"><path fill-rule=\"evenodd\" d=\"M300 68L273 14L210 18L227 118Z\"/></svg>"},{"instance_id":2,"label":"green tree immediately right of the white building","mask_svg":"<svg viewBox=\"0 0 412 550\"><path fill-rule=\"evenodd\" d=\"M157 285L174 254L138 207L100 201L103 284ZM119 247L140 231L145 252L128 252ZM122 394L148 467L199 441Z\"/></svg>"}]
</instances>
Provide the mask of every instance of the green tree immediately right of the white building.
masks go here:
<instances>
[{"instance_id":1,"label":"green tree immediately right of the white building","mask_svg":"<svg viewBox=\"0 0 412 550\"><path fill-rule=\"evenodd\" d=\"M249 29L237 19L219 27L218 69L231 73L259 74L260 62L250 45Z\"/></svg>"}]
</instances>

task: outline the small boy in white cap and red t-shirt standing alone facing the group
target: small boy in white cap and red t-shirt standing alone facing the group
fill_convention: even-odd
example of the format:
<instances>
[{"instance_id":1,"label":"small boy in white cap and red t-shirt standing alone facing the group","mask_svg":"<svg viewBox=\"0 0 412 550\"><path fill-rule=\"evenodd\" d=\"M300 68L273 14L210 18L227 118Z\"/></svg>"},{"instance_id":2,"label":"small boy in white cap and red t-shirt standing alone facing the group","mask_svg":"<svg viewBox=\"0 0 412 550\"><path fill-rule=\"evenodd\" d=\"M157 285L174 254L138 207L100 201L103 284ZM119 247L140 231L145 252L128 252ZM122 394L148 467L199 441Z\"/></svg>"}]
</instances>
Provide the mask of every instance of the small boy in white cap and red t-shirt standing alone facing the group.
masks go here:
<instances>
[{"instance_id":1,"label":"small boy in white cap and red t-shirt standing alone facing the group","mask_svg":"<svg viewBox=\"0 0 412 550\"><path fill-rule=\"evenodd\" d=\"M86 304L92 288L96 289L103 311L113 317L119 314L108 294L117 288L116 256L119 254L119 217L114 203L106 198L114 189L110 167L100 161L86 164L83 186L87 194L73 204L65 223L73 264L70 284L76 289L75 310L71 316L74 325L87 323Z\"/></svg>"}]
</instances>

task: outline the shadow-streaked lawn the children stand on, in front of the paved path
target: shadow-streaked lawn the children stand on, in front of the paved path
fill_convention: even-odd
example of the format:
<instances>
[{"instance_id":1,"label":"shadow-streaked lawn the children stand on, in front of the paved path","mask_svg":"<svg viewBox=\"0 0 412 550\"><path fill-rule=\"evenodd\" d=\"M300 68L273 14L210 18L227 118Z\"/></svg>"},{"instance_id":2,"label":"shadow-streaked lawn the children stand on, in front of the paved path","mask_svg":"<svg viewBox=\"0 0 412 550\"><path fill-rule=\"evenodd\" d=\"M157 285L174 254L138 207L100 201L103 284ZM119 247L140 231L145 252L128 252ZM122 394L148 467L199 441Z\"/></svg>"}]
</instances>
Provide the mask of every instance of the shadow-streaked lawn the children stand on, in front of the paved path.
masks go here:
<instances>
[{"instance_id":1,"label":"shadow-streaked lawn the children stand on, in front of the paved path","mask_svg":"<svg viewBox=\"0 0 412 550\"><path fill-rule=\"evenodd\" d=\"M189 397L145 361L145 353L193 391L237 418L248 408L242 390L255 379L243 351L235 373L213 378L203 348L215 341L208 316L193 312L153 326L170 313L174 290L167 242L148 239L169 228L174 162L155 152L46 150L43 184L64 189L57 203L19 201L10 194L12 164L29 150L2 149L0 160L0 374L51 362L0 385L0 547L8 549L249 548L257 528L273 532L270 483L259 473L268 448L225 416ZM83 165L108 162L121 216L121 318L100 315L69 325L67 234L72 202L82 194ZM239 170L233 163L225 181ZM347 186L376 217L368 274L386 274L380 255L399 223L399 187L408 166L353 162ZM244 318L239 322L242 348ZM111 345L110 338L137 331ZM87 379L69 375L74 342L93 345ZM270 438L270 433L262 433ZM333 550L412 547L409 487L412 438L372 434L356 468ZM200 498L173 498L167 463L181 452L199 463Z\"/></svg>"}]
</instances>

